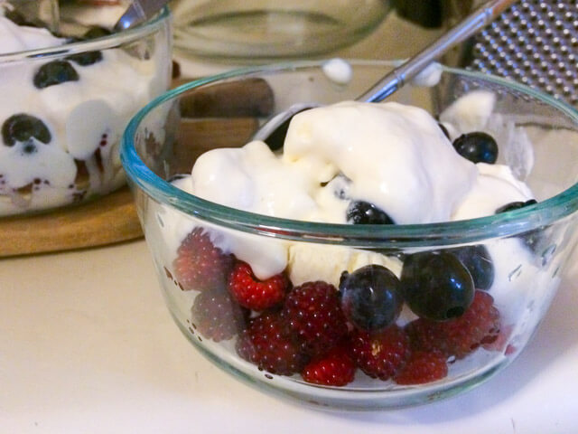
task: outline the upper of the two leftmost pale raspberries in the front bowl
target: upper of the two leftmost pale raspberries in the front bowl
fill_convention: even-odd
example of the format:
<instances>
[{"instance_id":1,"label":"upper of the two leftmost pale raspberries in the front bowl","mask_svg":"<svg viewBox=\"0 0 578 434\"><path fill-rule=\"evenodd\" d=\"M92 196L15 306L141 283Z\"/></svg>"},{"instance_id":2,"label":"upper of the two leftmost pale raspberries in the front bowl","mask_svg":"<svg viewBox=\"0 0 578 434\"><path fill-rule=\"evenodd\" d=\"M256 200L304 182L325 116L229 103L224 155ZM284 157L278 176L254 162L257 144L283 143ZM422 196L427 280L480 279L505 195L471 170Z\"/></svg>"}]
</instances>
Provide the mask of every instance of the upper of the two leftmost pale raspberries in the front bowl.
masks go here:
<instances>
[{"instance_id":1,"label":"upper of the two leftmost pale raspberries in the front bowl","mask_svg":"<svg viewBox=\"0 0 578 434\"><path fill-rule=\"evenodd\" d=\"M225 288L233 257L215 247L209 233L199 227L182 241L172 265L183 290L204 291Z\"/></svg>"}]
</instances>

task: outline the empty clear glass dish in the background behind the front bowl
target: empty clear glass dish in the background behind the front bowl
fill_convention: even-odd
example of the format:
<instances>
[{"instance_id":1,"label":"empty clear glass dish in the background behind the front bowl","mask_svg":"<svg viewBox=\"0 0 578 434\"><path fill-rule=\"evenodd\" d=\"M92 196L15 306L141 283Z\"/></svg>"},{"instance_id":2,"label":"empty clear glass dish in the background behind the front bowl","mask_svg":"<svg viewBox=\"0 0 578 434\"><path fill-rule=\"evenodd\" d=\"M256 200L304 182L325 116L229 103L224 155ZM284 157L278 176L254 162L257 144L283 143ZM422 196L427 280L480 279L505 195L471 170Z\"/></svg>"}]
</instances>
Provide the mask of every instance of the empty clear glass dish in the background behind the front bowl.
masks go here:
<instances>
[{"instance_id":1,"label":"empty clear glass dish in the background behind the front bowl","mask_svg":"<svg viewBox=\"0 0 578 434\"><path fill-rule=\"evenodd\" d=\"M358 42L390 9L384 0L182 0L174 7L174 45L225 60L311 56Z\"/></svg>"}]
</instances>

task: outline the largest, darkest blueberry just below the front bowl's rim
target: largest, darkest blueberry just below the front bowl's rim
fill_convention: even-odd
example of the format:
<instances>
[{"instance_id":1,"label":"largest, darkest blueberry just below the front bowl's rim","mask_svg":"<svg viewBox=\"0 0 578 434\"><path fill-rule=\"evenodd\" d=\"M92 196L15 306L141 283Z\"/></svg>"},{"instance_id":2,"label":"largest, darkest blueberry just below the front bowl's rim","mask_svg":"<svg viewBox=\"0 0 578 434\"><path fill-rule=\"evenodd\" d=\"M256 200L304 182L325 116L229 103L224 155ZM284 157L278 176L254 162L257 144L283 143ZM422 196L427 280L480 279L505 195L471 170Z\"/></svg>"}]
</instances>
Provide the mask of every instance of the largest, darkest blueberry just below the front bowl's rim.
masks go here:
<instances>
[{"instance_id":1,"label":"largest, darkest blueberry just below the front bowl's rim","mask_svg":"<svg viewBox=\"0 0 578 434\"><path fill-rule=\"evenodd\" d=\"M447 251L409 255L401 272L401 288L415 315L433 321L461 316L475 290L470 272Z\"/></svg>"}]
</instances>

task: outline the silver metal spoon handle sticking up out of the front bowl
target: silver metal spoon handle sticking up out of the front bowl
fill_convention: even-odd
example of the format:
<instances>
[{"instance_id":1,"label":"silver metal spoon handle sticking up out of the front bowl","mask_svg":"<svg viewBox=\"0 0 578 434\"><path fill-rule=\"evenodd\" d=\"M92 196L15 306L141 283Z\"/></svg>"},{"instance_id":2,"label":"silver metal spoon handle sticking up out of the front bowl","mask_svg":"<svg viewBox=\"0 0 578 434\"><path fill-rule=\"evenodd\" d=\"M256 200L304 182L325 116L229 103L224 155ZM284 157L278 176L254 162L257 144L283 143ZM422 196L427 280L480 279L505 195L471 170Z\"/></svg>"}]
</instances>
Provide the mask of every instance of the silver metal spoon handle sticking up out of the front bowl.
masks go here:
<instances>
[{"instance_id":1,"label":"silver metal spoon handle sticking up out of the front bowl","mask_svg":"<svg viewBox=\"0 0 578 434\"><path fill-rule=\"evenodd\" d=\"M455 44L463 42L471 35L478 32L494 21L499 14L504 12L517 0L492 0L480 6L472 14L456 24L450 31L443 33L437 40L427 46L411 59L405 61L401 66L389 72L383 79L379 80L371 89L359 97L359 100L368 102L378 102L386 99L389 95L400 89L407 80L415 77L419 72L432 61L447 52Z\"/></svg>"}]
</instances>

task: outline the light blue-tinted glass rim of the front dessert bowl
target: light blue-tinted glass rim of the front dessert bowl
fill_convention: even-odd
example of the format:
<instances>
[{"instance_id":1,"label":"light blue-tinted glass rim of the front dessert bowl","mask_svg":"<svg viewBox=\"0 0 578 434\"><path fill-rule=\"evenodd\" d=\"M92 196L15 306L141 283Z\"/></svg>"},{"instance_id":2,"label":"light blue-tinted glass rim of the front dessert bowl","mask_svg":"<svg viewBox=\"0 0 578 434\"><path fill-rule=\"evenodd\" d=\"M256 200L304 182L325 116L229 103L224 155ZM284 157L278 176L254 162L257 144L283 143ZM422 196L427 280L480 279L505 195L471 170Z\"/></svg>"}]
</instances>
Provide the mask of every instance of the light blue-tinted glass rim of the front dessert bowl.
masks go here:
<instances>
[{"instance_id":1,"label":"light blue-tinted glass rim of the front dessert bowl","mask_svg":"<svg viewBox=\"0 0 578 434\"><path fill-rule=\"evenodd\" d=\"M275 71L297 71L321 67L328 60L290 61L269 65L251 66L193 80L169 90L152 100L131 119L122 137L120 157L129 180L158 203L171 206L205 222L230 229L257 233L291 241L313 241L343 246L362 246L378 249L422 248L442 245L458 245L477 241L488 241L501 237L536 230L557 222L578 210L578 184L555 196L534 205L511 212L456 222L396 225L351 225L322 222L302 222L270 217L253 212L240 211L228 206L212 203L164 181L154 175L137 155L134 140L138 126L157 106L193 88L218 80L238 78L256 73ZM375 65L395 67L402 61L348 60L352 65ZM502 79L475 71L466 71L443 66L443 72L461 75L475 80L487 81L516 90L528 97L540 100L560 110L572 119L578 128L578 111L545 93L533 90L513 80Z\"/></svg>"}]
</instances>

